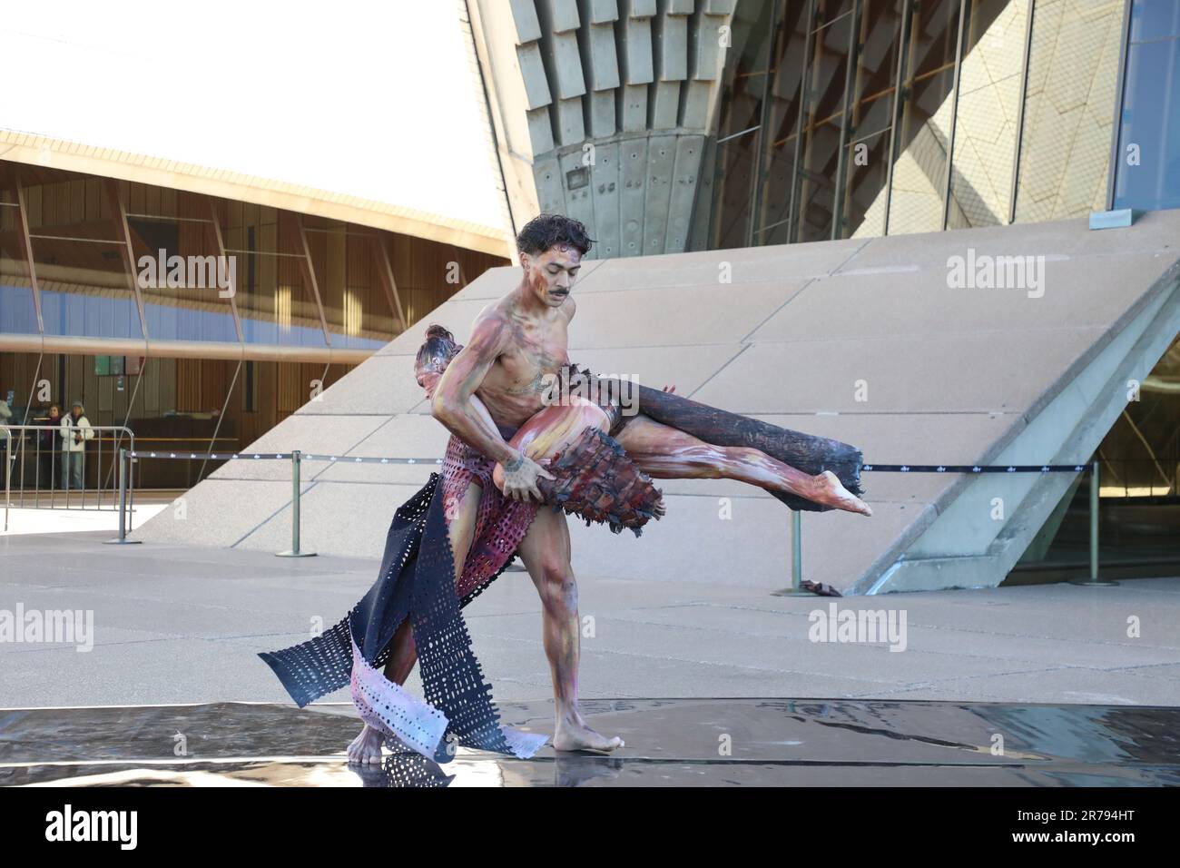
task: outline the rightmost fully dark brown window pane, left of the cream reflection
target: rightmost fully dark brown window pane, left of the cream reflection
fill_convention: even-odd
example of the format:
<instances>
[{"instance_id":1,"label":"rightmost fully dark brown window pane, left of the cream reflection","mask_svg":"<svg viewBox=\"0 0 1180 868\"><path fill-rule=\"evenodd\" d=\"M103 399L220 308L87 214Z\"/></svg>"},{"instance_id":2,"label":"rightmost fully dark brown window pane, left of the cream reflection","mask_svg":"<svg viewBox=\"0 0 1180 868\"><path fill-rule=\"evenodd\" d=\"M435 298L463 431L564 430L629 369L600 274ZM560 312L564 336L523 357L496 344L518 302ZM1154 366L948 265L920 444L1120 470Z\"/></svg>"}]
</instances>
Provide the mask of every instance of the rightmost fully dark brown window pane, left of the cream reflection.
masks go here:
<instances>
[{"instance_id":1,"label":"rightmost fully dark brown window pane, left of the cream reflection","mask_svg":"<svg viewBox=\"0 0 1180 868\"><path fill-rule=\"evenodd\" d=\"M845 15L812 34L807 71L807 120L799 155L800 208L796 241L833 237L835 176L848 73L852 17Z\"/></svg>"}]
</instances>

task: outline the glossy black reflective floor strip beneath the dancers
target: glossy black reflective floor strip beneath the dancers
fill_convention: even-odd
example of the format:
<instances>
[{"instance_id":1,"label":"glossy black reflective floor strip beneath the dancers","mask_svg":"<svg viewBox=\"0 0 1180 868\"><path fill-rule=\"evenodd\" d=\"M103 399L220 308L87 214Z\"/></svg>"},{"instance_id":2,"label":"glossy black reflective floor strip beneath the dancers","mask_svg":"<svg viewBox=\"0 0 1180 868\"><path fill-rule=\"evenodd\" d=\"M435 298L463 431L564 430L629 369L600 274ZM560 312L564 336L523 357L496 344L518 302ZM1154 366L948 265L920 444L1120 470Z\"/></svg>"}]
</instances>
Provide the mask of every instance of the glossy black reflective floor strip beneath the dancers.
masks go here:
<instances>
[{"instance_id":1,"label":"glossy black reflective floor strip beneath the dancers","mask_svg":"<svg viewBox=\"0 0 1180 868\"><path fill-rule=\"evenodd\" d=\"M499 705L552 733L552 703ZM349 766L348 704L0 710L0 784L71 787L1180 785L1180 707L819 699L583 703L612 756L458 748Z\"/></svg>"}]
</instances>

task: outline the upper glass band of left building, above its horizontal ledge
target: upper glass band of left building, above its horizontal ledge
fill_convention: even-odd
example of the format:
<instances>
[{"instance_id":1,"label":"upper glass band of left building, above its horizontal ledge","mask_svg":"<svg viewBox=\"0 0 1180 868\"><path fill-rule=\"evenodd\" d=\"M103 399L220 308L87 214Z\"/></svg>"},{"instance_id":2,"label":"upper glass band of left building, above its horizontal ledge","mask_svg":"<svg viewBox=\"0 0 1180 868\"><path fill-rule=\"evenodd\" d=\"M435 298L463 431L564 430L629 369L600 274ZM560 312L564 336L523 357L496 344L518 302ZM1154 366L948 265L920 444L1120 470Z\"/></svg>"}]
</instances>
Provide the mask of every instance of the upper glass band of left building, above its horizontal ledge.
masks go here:
<instances>
[{"instance_id":1,"label":"upper glass band of left building, above its horizontal ledge","mask_svg":"<svg viewBox=\"0 0 1180 868\"><path fill-rule=\"evenodd\" d=\"M44 334L146 339L159 355L191 354L170 342L319 359L375 351L500 265L314 215L0 161L0 348L5 334Z\"/></svg>"}]
</instances>

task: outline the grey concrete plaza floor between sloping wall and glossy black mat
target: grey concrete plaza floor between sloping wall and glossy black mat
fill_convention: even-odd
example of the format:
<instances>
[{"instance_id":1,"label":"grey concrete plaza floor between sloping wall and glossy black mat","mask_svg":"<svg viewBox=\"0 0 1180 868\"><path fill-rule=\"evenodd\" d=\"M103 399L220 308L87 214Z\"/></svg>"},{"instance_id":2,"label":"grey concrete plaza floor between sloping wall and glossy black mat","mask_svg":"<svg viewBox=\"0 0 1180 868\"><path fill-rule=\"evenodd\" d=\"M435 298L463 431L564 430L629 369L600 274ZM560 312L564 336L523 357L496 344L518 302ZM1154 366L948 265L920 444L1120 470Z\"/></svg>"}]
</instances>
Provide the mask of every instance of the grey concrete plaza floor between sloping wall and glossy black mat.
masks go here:
<instances>
[{"instance_id":1,"label":"grey concrete plaza floor between sloping wall and glossy black mat","mask_svg":"<svg viewBox=\"0 0 1180 868\"><path fill-rule=\"evenodd\" d=\"M0 641L0 707L287 700L256 652L329 627L378 568L360 559L103 544L109 536L0 539L0 616L21 606L94 618L88 652ZM585 698L1180 705L1180 577L840 600L598 575L579 575L578 586ZM812 641L808 614L827 614L831 603L904 614L905 650ZM551 697L539 612L518 572L465 609L497 700ZM417 673L407 686L420 690Z\"/></svg>"}]
</instances>

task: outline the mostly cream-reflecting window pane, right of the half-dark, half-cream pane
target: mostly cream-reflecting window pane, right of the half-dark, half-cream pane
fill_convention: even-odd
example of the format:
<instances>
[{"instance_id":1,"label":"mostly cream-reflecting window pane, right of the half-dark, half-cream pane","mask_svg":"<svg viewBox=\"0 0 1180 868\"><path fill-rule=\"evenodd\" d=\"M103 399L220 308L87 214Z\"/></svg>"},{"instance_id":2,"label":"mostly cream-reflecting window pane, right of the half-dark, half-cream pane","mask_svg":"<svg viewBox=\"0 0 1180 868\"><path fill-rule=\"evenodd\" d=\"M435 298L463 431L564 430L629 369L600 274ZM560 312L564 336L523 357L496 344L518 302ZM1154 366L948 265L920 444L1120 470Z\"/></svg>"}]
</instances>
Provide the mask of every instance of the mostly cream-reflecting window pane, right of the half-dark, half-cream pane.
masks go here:
<instances>
[{"instance_id":1,"label":"mostly cream-reflecting window pane, right of the half-dark, half-cream pane","mask_svg":"<svg viewBox=\"0 0 1180 868\"><path fill-rule=\"evenodd\" d=\"M949 229L1009 222L1030 0L972 0L959 72Z\"/></svg>"}]
</instances>

